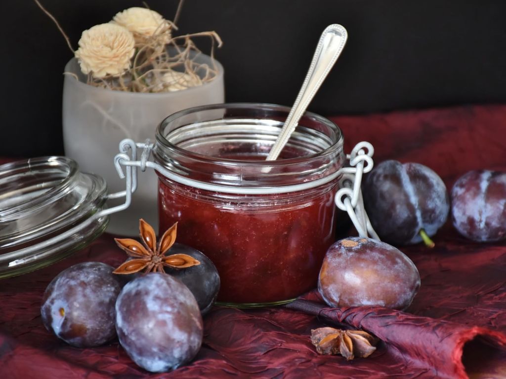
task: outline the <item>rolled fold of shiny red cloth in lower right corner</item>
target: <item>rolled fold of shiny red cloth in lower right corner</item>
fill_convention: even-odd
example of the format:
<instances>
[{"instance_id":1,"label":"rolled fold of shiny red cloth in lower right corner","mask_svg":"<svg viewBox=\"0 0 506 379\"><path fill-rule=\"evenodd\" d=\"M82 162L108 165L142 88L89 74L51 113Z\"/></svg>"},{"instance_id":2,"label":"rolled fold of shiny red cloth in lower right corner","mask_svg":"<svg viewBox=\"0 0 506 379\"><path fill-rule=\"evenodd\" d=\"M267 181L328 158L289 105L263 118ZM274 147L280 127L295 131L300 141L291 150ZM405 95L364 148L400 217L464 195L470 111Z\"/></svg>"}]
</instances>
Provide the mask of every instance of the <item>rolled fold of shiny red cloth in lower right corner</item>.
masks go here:
<instances>
[{"instance_id":1,"label":"rolled fold of shiny red cloth in lower right corner","mask_svg":"<svg viewBox=\"0 0 506 379\"><path fill-rule=\"evenodd\" d=\"M467 378L462 362L466 343L480 338L483 343L506 353L506 334L481 326L414 316L382 307L328 308L321 303L298 299L285 306L329 321L345 323L368 331L394 348L394 354L407 358L414 366L437 368L440 377ZM476 345L477 349L483 348ZM468 354L473 354L469 352ZM506 359L506 354L503 355ZM506 369L494 361L482 362L488 369ZM492 367L497 365L497 367Z\"/></svg>"}]
</instances>

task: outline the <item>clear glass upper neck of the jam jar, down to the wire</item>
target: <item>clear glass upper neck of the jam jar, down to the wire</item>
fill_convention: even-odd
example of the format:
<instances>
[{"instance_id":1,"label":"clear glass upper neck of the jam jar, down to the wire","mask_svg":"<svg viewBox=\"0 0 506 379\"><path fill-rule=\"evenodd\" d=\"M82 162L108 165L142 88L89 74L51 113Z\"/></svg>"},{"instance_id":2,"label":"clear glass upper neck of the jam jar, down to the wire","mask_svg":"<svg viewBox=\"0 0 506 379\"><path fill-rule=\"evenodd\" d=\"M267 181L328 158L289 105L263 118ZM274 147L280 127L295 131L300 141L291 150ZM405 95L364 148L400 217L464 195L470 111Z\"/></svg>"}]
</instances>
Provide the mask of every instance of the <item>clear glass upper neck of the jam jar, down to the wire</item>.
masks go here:
<instances>
[{"instance_id":1,"label":"clear glass upper neck of the jam jar, down to the wire","mask_svg":"<svg viewBox=\"0 0 506 379\"><path fill-rule=\"evenodd\" d=\"M252 196L304 191L339 177L346 159L343 134L314 113L303 115L284 150L287 158L259 159L267 157L288 113L288 107L263 103L176 112L157 128L157 171L180 184Z\"/></svg>"}]
</instances>

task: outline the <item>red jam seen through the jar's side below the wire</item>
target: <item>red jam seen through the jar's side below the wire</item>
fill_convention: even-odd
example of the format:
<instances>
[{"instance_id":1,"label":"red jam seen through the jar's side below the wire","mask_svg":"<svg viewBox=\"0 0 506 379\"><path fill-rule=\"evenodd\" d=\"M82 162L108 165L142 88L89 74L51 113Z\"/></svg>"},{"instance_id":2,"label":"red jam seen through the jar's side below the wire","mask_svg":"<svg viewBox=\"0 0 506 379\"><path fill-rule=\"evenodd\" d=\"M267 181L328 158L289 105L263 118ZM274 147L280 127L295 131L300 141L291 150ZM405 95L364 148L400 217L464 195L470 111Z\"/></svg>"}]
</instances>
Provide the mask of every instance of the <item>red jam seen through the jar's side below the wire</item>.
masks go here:
<instances>
[{"instance_id":1,"label":"red jam seen through the jar's side below the wire","mask_svg":"<svg viewBox=\"0 0 506 379\"><path fill-rule=\"evenodd\" d=\"M316 287L334 242L336 186L334 181L297 193L230 196L159 175L160 232L177 221L177 241L213 261L221 278L218 301L290 300Z\"/></svg>"}]
</instances>

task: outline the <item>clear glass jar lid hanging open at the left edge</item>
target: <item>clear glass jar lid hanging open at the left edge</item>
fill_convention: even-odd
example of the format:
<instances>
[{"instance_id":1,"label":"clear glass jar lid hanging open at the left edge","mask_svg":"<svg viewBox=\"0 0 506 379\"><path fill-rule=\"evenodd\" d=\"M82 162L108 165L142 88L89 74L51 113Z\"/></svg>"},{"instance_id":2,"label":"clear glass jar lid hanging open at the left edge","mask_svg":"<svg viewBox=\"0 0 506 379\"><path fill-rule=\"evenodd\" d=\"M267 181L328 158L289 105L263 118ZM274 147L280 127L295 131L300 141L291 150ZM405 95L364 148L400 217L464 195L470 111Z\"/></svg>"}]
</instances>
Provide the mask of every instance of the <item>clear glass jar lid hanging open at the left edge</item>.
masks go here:
<instances>
[{"instance_id":1,"label":"clear glass jar lid hanging open at the left edge","mask_svg":"<svg viewBox=\"0 0 506 379\"><path fill-rule=\"evenodd\" d=\"M65 157L0 165L0 278L82 249L106 228L107 186Z\"/></svg>"}]
</instances>

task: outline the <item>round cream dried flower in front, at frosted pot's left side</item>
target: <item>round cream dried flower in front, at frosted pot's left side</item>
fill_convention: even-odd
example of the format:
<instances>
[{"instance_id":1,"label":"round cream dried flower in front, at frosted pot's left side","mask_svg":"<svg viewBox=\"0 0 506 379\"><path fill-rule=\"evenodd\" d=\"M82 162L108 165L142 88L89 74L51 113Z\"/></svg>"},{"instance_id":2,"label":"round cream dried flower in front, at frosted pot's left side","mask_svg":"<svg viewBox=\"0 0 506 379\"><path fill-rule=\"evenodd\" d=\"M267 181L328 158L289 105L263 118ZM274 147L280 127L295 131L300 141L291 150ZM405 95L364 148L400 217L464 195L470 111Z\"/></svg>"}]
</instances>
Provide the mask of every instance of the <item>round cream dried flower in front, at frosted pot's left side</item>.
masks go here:
<instances>
[{"instance_id":1,"label":"round cream dried flower in front, at frosted pot's left side","mask_svg":"<svg viewBox=\"0 0 506 379\"><path fill-rule=\"evenodd\" d=\"M134 36L127 29L100 24L82 32L75 57L85 74L91 72L97 78L119 76L130 68L134 46Z\"/></svg>"}]
</instances>

